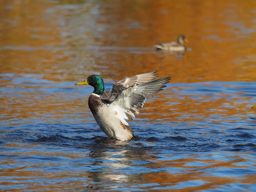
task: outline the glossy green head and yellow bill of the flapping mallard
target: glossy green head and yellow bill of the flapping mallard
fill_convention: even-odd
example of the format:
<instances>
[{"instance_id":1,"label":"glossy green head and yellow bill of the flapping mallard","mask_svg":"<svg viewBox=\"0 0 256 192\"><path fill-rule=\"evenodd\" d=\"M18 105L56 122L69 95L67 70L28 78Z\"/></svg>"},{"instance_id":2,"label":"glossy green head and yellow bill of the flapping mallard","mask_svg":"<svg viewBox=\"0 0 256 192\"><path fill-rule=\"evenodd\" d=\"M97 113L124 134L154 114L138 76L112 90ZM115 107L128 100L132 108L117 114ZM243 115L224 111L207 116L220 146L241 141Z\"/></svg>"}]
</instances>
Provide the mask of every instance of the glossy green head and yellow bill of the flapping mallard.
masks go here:
<instances>
[{"instance_id":1,"label":"glossy green head and yellow bill of the flapping mallard","mask_svg":"<svg viewBox=\"0 0 256 192\"><path fill-rule=\"evenodd\" d=\"M76 83L75 85L91 85L94 88L93 93L102 95L104 91L104 82L98 75L90 75L87 79L82 82Z\"/></svg>"}]
</instances>

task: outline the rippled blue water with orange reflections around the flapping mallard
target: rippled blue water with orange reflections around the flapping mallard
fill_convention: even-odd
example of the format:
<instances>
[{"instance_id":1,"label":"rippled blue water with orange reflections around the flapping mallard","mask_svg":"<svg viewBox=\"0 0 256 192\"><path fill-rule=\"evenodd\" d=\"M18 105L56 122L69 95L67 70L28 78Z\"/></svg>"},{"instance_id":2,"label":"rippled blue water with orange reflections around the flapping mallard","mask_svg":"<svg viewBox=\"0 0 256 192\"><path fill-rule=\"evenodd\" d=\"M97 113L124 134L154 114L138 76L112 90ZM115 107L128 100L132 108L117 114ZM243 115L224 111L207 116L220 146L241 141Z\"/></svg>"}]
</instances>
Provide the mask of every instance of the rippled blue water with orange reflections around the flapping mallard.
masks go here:
<instances>
[{"instance_id":1,"label":"rippled blue water with orange reflections around the flapping mallard","mask_svg":"<svg viewBox=\"0 0 256 192\"><path fill-rule=\"evenodd\" d=\"M1 76L13 83L0 88L2 190L255 188L255 82L169 83L129 122L135 139L113 141L88 109L91 87Z\"/></svg>"}]
</instances>

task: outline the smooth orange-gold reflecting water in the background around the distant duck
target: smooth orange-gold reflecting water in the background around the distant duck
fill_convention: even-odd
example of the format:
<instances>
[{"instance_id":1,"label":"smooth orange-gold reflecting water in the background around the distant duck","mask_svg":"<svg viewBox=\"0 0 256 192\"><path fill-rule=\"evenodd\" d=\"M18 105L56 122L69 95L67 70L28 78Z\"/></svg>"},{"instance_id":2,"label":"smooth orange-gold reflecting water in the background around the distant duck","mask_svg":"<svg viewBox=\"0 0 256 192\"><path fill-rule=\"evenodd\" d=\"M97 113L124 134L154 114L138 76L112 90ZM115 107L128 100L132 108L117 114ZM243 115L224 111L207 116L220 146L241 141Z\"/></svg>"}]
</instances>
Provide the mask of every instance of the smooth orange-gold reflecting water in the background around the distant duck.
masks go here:
<instances>
[{"instance_id":1,"label":"smooth orange-gold reflecting water in the background around the distant duck","mask_svg":"<svg viewBox=\"0 0 256 192\"><path fill-rule=\"evenodd\" d=\"M170 56L157 68L160 74L171 74L172 82L255 81L256 78L255 33L250 32L255 26L253 1L225 1L218 6L212 1L175 4L120 1L99 7L102 17L88 13L88 9L96 6L93 3L87 3L89 8L80 3L77 7L58 9L56 4L22 2L1 1L6 19L0 25L0 45L19 49L0 50L2 73L42 74L43 71L46 79L77 81L77 74L82 77L98 71L118 80L152 71L168 53L138 55L124 50L86 49L95 66L79 47L152 47L157 42L176 40L183 33L190 40L191 51L185 51L179 60ZM76 6L75 1L68 3ZM62 1L59 6L64 5ZM93 19L88 22L84 14ZM83 35L84 39L78 39L83 23L86 27L98 25L104 33L99 36L99 32L91 30ZM131 23L132 29L128 27ZM22 50L26 47L32 50Z\"/></svg>"}]
</instances>

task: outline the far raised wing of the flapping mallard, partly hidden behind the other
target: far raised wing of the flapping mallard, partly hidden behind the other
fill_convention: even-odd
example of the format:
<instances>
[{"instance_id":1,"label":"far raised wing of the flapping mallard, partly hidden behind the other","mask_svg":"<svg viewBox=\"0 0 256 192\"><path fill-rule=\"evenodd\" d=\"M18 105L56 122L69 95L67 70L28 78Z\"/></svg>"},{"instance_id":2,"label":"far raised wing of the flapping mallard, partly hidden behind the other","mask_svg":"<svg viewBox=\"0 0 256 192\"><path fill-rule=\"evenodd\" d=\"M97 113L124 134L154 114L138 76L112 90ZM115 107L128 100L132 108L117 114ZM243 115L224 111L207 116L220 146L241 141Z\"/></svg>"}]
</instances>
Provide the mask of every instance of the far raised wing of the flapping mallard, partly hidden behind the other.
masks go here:
<instances>
[{"instance_id":1,"label":"far raised wing of the flapping mallard, partly hidden behind the other","mask_svg":"<svg viewBox=\"0 0 256 192\"><path fill-rule=\"evenodd\" d=\"M157 76L157 74L158 74L157 71L154 71L154 72L150 72L150 73L135 75L133 77L125 77L124 79L116 82L113 85L112 93L110 95L109 100L114 101L115 97L117 96L118 92L121 89L128 88L134 84L139 85L141 83L145 83L145 82L149 82L149 81L157 79L157 77L159 77L159 76Z\"/></svg>"}]
</instances>

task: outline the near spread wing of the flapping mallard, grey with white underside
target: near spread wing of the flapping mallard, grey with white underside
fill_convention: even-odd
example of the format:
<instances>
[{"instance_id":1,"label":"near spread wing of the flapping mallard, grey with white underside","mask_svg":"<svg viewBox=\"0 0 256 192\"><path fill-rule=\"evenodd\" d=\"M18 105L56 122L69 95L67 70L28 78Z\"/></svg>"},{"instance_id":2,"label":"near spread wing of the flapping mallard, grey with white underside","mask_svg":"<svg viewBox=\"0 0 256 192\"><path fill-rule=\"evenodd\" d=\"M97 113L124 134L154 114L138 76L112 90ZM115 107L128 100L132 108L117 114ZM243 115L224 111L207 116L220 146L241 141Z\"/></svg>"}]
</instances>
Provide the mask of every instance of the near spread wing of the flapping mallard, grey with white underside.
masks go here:
<instances>
[{"instance_id":1,"label":"near spread wing of the flapping mallard, grey with white underside","mask_svg":"<svg viewBox=\"0 0 256 192\"><path fill-rule=\"evenodd\" d=\"M132 120L135 118L132 111L138 115L139 108L143 107L146 102L146 98L153 97L156 93L163 90L166 87L166 83L171 79L171 77L166 76L153 81L141 83L139 85L132 85L128 88L123 88L119 91L115 101L111 104L118 105L120 108L126 110L125 114L128 118Z\"/></svg>"}]
</instances>

